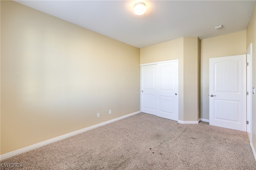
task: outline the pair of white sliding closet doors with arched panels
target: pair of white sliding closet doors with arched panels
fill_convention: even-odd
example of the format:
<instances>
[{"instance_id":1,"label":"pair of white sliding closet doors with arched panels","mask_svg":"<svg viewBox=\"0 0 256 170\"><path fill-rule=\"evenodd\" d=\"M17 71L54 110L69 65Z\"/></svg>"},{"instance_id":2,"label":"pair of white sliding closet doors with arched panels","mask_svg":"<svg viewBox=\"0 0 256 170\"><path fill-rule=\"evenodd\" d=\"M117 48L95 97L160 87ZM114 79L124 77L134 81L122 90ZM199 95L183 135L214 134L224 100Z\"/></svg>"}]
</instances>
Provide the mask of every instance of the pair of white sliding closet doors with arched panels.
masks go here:
<instances>
[{"instance_id":1,"label":"pair of white sliding closet doors with arched panels","mask_svg":"<svg viewBox=\"0 0 256 170\"><path fill-rule=\"evenodd\" d=\"M178 61L141 67L141 111L178 121Z\"/></svg>"}]
</instances>

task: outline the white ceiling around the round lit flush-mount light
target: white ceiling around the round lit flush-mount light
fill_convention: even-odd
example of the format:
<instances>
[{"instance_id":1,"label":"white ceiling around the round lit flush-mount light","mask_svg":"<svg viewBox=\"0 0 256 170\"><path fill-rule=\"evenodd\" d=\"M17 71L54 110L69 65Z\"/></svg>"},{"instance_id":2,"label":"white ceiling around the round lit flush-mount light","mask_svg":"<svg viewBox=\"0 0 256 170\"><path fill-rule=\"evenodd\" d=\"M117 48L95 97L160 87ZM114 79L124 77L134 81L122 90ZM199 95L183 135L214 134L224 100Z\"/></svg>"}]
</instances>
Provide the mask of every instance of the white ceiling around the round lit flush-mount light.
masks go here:
<instances>
[{"instance_id":1,"label":"white ceiling around the round lit flush-mount light","mask_svg":"<svg viewBox=\"0 0 256 170\"><path fill-rule=\"evenodd\" d=\"M180 37L201 40L245 30L255 0L140 0L142 16L133 13L138 0L18 0L36 10L138 48ZM214 27L224 28L215 30Z\"/></svg>"}]
</instances>

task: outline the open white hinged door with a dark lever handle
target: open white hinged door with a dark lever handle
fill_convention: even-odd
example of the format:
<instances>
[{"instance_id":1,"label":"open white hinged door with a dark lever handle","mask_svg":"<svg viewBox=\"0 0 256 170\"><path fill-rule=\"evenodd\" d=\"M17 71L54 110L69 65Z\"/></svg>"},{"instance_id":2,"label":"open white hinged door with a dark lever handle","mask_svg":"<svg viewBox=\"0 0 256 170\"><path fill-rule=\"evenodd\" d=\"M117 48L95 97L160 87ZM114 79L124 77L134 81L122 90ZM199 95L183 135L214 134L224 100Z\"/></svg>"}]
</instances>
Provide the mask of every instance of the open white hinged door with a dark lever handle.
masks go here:
<instances>
[{"instance_id":1,"label":"open white hinged door with a dark lever handle","mask_svg":"<svg viewBox=\"0 0 256 170\"><path fill-rule=\"evenodd\" d=\"M210 58L210 125L246 131L246 55Z\"/></svg>"}]
</instances>

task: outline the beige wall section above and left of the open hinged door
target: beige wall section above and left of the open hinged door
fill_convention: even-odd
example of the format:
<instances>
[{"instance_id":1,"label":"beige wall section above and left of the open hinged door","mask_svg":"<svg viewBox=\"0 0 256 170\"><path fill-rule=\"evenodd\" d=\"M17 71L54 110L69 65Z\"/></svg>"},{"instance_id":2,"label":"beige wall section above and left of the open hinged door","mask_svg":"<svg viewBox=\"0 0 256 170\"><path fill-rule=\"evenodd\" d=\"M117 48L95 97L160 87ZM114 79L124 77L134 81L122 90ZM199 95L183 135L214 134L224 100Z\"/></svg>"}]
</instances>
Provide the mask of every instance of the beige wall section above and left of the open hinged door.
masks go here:
<instances>
[{"instance_id":1,"label":"beige wall section above and left of the open hinged door","mask_svg":"<svg viewBox=\"0 0 256 170\"><path fill-rule=\"evenodd\" d=\"M209 58L246 52L246 30L201 40L200 118L209 119Z\"/></svg>"}]
</instances>

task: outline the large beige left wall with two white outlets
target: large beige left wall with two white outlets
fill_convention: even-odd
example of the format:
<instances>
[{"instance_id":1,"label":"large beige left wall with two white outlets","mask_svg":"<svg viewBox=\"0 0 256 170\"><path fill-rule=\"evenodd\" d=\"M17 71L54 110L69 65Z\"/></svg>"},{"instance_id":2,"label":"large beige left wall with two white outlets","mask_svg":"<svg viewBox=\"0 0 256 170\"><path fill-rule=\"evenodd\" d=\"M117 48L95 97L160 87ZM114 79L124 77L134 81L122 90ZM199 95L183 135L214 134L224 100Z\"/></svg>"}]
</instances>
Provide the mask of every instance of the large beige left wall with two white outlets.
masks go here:
<instances>
[{"instance_id":1,"label":"large beige left wall with two white outlets","mask_svg":"<svg viewBox=\"0 0 256 170\"><path fill-rule=\"evenodd\" d=\"M1 154L137 111L140 49L1 1Z\"/></svg>"}]
</instances>

